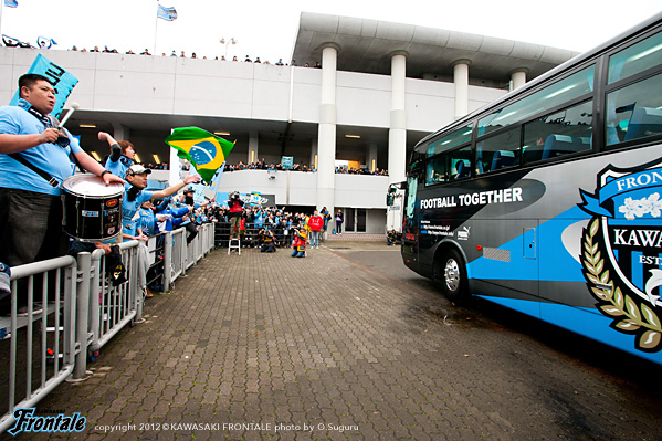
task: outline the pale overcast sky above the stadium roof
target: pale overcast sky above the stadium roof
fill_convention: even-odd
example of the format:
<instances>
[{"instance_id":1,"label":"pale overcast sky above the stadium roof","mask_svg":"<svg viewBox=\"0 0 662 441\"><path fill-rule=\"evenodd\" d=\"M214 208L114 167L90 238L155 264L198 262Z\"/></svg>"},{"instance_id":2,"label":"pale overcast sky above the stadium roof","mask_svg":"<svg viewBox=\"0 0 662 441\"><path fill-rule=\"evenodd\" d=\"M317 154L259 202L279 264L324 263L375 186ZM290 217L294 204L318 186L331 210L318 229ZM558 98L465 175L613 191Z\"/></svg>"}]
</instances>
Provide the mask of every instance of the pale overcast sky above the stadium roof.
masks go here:
<instances>
[{"instance_id":1,"label":"pale overcast sky above the stadium roof","mask_svg":"<svg viewBox=\"0 0 662 441\"><path fill-rule=\"evenodd\" d=\"M287 62L302 11L417 24L584 52L662 11L660 0L164 0L178 19L156 20L156 0L18 0L2 8L2 34L54 49L228 55Z\"/></svg>"}]
</instances>

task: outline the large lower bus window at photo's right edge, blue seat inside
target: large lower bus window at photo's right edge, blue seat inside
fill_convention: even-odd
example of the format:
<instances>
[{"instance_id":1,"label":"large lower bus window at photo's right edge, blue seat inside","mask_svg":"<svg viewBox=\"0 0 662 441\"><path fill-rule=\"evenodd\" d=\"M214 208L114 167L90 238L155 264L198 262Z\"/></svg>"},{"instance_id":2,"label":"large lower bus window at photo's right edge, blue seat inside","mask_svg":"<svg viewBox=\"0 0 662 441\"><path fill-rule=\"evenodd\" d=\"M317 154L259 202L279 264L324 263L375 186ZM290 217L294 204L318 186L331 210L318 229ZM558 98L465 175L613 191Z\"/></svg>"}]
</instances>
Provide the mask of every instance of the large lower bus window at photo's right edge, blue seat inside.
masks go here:
<instances>
[{"instance_id":1,"label":"large lower bus window at photo's right edge, blue seat inside","mask_svg":"<svg viewBox=\"0 0 662 441\"><path fill-rule=\"evenodd\" d=\"M607 95L606 141L622 141L662 134L662 74Z\"/></svg>"}]
</instances>

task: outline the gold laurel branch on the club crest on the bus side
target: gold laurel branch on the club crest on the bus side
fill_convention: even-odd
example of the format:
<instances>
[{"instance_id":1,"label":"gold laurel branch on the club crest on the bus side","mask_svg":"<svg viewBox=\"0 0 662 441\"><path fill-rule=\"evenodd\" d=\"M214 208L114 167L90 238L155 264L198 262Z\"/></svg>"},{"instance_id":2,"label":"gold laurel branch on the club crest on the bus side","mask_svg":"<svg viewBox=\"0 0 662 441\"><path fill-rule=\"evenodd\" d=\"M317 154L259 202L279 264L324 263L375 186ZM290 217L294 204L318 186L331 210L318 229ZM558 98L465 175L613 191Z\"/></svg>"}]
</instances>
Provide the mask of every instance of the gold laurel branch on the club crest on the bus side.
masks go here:
<instances>
[{"instance_id":1,"label":"gold laurel branch on the club crest on the bus side","mask_svg":"<svg viewBox=\"0 0 662 441\"><path fill-rule=\"evenodd\" d=\"M584 234L584 275L592 284L590 291L599 301L599 309L613 318L611 327L635 334L638 349L654 353L662 349L662 322L653 308L643 302L639 305L611 280L602 259L599 243L593 241L600 232L600 218L593 218ZM607 288L610 286L610 288Z\"/></svg>"}]
</instances>

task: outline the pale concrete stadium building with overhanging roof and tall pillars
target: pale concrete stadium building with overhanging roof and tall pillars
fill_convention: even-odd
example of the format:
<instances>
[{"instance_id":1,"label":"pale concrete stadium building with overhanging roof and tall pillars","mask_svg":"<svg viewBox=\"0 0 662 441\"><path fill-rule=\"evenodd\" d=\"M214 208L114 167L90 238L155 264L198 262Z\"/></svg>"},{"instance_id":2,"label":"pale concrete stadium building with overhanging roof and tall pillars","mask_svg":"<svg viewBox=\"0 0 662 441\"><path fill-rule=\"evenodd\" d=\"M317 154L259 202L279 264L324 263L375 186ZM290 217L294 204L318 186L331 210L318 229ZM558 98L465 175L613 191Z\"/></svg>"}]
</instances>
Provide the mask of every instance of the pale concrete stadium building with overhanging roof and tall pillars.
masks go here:
<instances>
[{"instance_id":1,"label":"pale concrete stadium building with overhanging roof and tall pillars","mask_svg":"<svg viewBox=\"0 0 662 441\"><path fill-rule=\"evenodd\" d=\"M4 103L36 52L0 48ZM419 139L577 54L316 13L301 15L291 56L296 66L42 53L80 80L70 102L81 107L66 127L93 156L108 154L107 144L97 139L104 130L130 140L145 164L170 161L164 139L171 128L201 127L237 140L228 164L279 164L292 157L316 169L225 172L221 191L272 195L279 207L341 209L349 233L385 231L388 186L404 180L407 158ZM388 176L336 174L337 167L387 169ZM171 169L153 177L166 181L178 172Z\"/></svg>"}]
</instances>

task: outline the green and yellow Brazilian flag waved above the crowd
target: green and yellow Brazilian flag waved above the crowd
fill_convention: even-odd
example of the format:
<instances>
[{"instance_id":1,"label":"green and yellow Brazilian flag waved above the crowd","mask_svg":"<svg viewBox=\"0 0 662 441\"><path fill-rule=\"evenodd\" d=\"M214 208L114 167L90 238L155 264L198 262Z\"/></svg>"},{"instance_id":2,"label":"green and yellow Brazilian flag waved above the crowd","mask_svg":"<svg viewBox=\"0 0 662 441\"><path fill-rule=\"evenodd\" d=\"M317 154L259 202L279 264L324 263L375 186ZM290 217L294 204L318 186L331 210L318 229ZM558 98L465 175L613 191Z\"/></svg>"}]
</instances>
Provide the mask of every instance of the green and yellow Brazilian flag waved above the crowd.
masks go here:
<instances>
[{"instance_id":1,"label":"green and yellow Brazilian flag waved above the crowd","mask_svg":"<svg viewBox=\"0 0 662 441\"><path fill-rule=\"evenodd\" d=\"M166 144L179 150L177 156L191 162L208 185L234 147L234 143L198 127L172 129L170 136L166 138Z\"/></svg>"}]
</instances>

